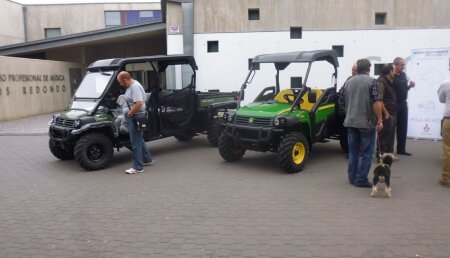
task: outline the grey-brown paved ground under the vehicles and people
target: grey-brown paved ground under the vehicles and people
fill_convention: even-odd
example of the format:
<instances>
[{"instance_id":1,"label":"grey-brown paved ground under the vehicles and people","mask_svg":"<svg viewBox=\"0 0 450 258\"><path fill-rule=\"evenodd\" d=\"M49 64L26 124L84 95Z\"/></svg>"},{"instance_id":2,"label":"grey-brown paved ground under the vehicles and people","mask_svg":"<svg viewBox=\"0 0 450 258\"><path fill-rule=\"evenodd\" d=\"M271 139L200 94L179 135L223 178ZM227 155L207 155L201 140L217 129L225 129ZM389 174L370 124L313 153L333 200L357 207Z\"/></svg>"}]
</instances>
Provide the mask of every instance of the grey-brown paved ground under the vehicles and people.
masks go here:
<instances>
[{"instance_id":1,"label":"grey-brown paved ground under the vehicles and people","mask_svg":"<svg viewBox=\"0 0 450 258\"><path fill-rule=\"evenodd\" d=\"M271 153L224 162L206 137L148 144L157 161L126 175L131 153L86 172L48 137L0 136L0 257L450 257L450 189L441 142L408 140L393 197L346 181L337 142L314 145L303 172Z\"/></svg>"}]
</instances>

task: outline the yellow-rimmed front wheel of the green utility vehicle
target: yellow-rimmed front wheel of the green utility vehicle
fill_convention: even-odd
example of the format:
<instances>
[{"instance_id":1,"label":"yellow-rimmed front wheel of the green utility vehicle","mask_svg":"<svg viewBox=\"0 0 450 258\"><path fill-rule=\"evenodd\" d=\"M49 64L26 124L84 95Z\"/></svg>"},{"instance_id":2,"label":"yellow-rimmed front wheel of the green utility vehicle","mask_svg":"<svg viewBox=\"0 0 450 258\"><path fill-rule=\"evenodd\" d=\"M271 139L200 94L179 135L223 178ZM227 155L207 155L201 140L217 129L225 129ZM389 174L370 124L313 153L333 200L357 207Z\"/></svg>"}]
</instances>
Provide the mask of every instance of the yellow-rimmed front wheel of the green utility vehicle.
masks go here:
<instances>
[{"instance_id":1,"label":"yellow-rimmed front wheel of the green utility vehicle","mask_svg":"<svg viewBox=\"0 0 450 258\"><path fill-rule=\"evenodd\" d=\"M309 156L309 144L301 133L288 134L280 143L281 167L289 173L300 172Z\"/></svg>"}]
</instances>

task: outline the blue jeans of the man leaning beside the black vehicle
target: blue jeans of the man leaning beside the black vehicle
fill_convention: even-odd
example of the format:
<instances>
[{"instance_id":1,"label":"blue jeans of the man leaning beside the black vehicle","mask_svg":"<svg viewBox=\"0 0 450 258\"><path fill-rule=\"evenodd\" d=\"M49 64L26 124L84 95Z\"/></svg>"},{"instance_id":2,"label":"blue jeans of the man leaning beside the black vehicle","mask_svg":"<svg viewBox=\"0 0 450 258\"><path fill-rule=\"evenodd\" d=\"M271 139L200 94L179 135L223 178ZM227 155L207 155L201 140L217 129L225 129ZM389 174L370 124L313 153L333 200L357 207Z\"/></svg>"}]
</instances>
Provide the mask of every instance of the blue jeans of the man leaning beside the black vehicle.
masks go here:
<instances>
[{"instance_id":1,"label":"blue jeans of the man leaning beside the black vehicle","mask_svg":"<svg viewBox=\"0 0 450 258\"><path fill-rule=\"evenodd\" d=\"M136 170L143 170L144 163L153 160L147 145L144 142L144 133L138 131L136 121L130 117L126 117L128 126L128 134L130 135L131 150L133 151L133 168Z\"/></svg>"}]
</instances>

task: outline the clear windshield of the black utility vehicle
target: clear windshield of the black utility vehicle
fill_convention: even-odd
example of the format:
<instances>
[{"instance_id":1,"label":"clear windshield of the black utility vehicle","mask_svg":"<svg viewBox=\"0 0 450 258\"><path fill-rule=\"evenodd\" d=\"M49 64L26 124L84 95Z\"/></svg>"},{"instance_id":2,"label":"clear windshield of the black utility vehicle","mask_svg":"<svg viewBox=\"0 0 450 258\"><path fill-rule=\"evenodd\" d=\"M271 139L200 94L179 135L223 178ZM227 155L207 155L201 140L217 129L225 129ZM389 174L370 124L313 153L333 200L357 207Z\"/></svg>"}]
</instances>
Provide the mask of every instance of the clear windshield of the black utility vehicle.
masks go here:
<instances>
[{"instance_id":1,"label":"clear windshield of the black utility vehicle","mask_svg":"<svg viewBox=\"0 0 450 258\"><path fill-rule=\"evenodd\" d=\"M113 72L89 72L75 93L75 98L97 99L103 94Z\"/></svg>"}]
</instances>

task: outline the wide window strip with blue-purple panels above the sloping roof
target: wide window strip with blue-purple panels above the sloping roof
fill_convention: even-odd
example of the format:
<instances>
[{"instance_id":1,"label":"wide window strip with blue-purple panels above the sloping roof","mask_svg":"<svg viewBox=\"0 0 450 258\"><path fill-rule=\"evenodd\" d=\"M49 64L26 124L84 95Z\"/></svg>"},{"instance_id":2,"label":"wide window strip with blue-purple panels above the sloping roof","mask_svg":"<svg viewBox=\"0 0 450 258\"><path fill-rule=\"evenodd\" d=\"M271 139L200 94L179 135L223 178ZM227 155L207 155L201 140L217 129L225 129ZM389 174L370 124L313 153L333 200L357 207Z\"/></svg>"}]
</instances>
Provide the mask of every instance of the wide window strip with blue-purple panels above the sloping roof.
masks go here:
<instances>
[{"instance_id":1,"label":"wide window strip with blue-purple panels above the sloping roof","mask_svg":"<svg viewBox=\"0 0 450 258\"><path fill-rule=\"evenodd\" d=\"M106 28L155 20L161 20L161 11L105 11Z\"/></svg>"}]
</instances>

